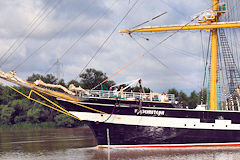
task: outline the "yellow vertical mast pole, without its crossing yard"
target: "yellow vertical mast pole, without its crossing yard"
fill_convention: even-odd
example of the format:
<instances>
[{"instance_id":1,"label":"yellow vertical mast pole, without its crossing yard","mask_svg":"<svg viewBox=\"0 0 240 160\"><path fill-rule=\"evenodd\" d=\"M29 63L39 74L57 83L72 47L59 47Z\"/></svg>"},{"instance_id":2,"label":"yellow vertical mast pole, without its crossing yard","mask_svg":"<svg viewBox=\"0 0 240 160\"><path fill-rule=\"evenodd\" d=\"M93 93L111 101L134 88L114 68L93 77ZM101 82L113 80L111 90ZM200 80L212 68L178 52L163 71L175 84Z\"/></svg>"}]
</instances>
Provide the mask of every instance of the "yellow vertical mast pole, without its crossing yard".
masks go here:
<instances>
[{"instance_id":1,"label":"yellow vertical mast pole, without its crossing yard","mask_svg":"<svg viewBox=\"0 0 240 160\"><path fill-rule=\"evenodd\" d=\"M212 10L218 10L218 0L213 0ZM218 15L214 22L217 22ZM210 110L217 110L217 29L212 29L211 79L210 79Z\"/></svg>"}]
</instances>

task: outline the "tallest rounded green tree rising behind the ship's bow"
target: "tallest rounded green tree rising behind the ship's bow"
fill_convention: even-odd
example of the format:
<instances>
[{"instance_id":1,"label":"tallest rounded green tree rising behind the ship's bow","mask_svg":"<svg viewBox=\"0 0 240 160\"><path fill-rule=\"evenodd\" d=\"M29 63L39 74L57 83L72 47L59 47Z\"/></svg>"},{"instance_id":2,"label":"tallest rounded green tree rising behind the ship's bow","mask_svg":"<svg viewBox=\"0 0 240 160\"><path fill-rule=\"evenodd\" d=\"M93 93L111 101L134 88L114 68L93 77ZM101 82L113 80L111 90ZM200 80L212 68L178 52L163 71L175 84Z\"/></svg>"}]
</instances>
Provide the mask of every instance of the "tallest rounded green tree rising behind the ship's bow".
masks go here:
<instances>
[{"instance_id":1,"label":"tallest rounded green tree rising behind the ship's bow","mask_svg":"<svg viewBox=\"0 0 240 160\"><path fill-rule=\"evenodd\" d=\"M108 77L106 76L106 73L103 73L102 71L93 69L93 68L88 68L86 71L82 74L79 75L81 78L80 84L82 88L85 89L92 89L95 86L97 86L99 83L107 79ZM110 88L115 84L114 81L108 80L104 83L104 86L106 88ZM100 89L101 87L97 87L96 89Z\"/></svg>"}]
</instances>

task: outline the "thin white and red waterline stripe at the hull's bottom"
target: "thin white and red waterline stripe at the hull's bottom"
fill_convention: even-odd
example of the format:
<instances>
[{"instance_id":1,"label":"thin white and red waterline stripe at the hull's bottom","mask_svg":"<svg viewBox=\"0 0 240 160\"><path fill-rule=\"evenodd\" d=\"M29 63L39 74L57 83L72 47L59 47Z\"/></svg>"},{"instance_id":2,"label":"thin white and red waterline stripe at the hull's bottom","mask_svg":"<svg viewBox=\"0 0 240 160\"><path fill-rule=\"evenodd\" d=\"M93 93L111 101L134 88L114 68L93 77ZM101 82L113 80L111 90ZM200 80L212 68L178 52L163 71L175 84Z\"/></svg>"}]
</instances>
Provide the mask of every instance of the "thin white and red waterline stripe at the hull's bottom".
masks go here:
<instances>
[{"instance_id":1,"label":"thin white and red waterline stripe at the hull's bottom","mask_svg":"<svg viewBox=\"0 0 240 160\"><path fill-rule=\"evenodd\" d=\"M154 144L154 145L98 145L99 148L191 148L191 147L240 147L237 143L193 143L193 144Z\"/></svg>"}]
</instances>

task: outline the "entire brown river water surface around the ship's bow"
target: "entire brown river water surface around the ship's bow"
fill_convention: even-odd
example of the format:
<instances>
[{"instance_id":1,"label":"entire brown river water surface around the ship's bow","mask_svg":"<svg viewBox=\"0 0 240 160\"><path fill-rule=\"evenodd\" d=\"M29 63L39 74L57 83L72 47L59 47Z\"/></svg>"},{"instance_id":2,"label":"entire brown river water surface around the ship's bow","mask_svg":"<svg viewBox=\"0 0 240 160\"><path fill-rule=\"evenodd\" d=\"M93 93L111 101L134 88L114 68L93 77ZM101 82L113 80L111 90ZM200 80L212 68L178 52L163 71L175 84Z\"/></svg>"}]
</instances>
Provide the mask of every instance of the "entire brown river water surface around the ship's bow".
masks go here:
<instances>
[{"instance_id":1,"label":"entire brown river water surface around the ship's bow","mask_svg":"<svg viewBox=\"0 0 240 160\"><path fill-rule=\"evenodd\" d=\"M100 149L87 127L1 130L0 160L240 160L240 147Z\"/></svg>"}]
</instances>

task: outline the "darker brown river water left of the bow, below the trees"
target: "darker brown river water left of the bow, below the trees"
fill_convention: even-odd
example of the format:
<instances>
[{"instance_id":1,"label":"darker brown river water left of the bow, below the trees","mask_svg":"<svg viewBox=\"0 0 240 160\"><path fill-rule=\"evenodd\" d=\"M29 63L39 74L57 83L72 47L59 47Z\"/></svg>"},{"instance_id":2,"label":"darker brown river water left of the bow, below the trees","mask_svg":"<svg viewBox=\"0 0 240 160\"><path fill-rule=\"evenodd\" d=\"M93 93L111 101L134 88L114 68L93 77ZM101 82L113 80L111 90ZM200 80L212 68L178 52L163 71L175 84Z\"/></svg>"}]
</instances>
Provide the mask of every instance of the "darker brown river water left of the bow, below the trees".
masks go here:
<instances>
[{"instance_id":1,"label":"darker brown river water left of the bow, below the trees","mask_svg":"<svg viewBox=\"0 0 240 160\"><path fill-rule=\"evenodd\" d=\"M0 131L0 153L53 152L95 146L89 128Z\"/></svg>"}]
</instances>

